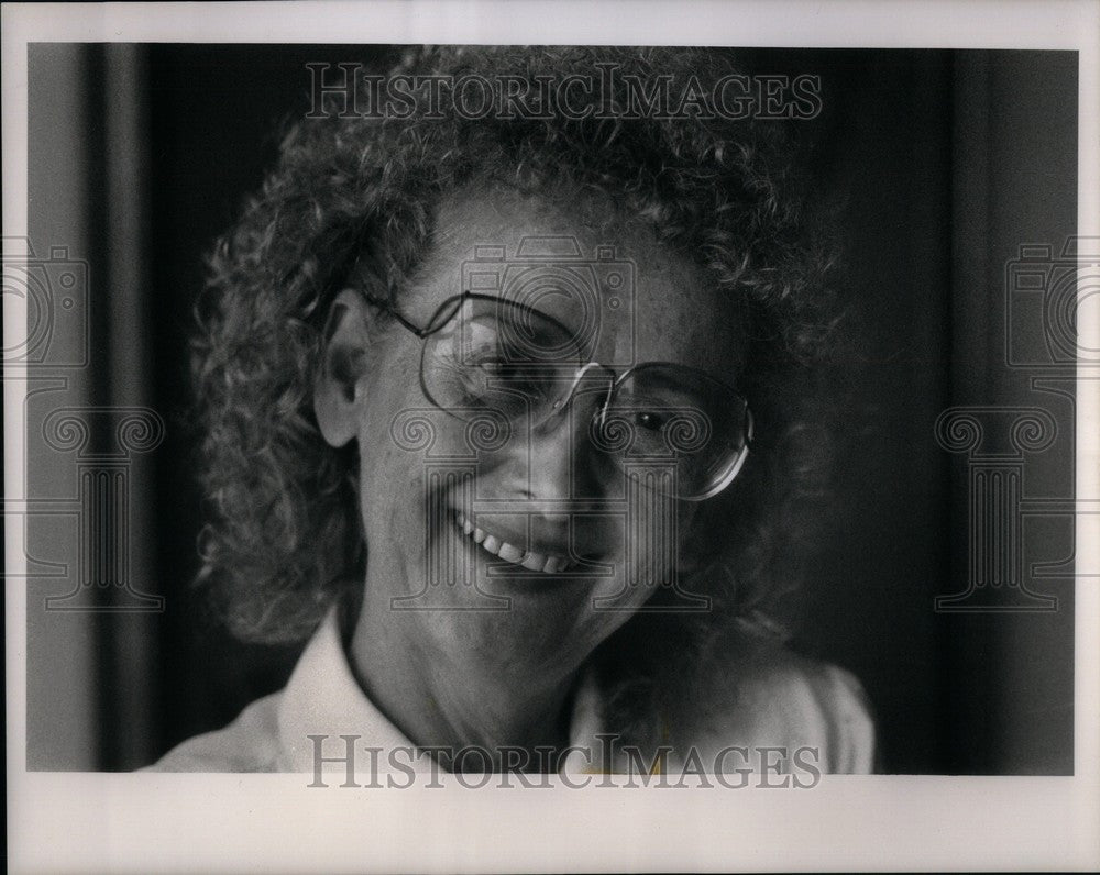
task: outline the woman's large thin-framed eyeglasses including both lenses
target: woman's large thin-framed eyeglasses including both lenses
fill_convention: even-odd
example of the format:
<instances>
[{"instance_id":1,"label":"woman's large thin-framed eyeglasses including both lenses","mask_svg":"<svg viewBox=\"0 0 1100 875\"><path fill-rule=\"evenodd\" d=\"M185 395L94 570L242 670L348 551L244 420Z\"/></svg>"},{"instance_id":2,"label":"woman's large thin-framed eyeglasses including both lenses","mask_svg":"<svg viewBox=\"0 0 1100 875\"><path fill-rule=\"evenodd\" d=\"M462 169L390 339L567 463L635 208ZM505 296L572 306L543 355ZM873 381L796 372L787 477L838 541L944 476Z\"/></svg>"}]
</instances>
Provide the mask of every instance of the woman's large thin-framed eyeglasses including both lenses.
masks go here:
<instances>
[{"instance_id":1,"label":"woman's large thin-framed eyeglasses including both lenses","mask_svg":"<svg viewBox=\"0 0 1100 875\"><path fill-rule=\"evenodd\" d=\"M424 341L420 387L436 407L469 420L495 411L531 425L594 400L593 448L620 469L657 465L649 478L676 498L702 501L738 475L752 441L748 402L696 368L647 362L623 374L587 355L579 332L516 301L466 291L448 298L422 328L389 303L367 302Z\"/></svg>"}]
</instances>

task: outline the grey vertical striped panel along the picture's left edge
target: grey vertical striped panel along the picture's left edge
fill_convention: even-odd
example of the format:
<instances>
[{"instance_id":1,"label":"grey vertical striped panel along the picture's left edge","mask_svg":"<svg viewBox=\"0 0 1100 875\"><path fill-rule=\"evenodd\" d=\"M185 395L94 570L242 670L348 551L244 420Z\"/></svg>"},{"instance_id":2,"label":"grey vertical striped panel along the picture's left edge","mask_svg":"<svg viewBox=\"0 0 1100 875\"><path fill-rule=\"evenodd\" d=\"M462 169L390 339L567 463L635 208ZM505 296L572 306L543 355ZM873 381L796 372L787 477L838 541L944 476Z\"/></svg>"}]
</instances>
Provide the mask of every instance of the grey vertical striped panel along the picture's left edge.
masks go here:
<instances>
[{"instance_id":1,"label":"grey vertical striped panel along the picture's left edge","mask_svg":"<svg viewBox=\"0 0 1100 875\"><path fill-rule=\"evenodd\" d=\"M148 73L132 45L32 45L29 62L28 278L44 306L25 403L26 762L131 768L158 750L164 591Z\"/></svg>"}]
</instances>

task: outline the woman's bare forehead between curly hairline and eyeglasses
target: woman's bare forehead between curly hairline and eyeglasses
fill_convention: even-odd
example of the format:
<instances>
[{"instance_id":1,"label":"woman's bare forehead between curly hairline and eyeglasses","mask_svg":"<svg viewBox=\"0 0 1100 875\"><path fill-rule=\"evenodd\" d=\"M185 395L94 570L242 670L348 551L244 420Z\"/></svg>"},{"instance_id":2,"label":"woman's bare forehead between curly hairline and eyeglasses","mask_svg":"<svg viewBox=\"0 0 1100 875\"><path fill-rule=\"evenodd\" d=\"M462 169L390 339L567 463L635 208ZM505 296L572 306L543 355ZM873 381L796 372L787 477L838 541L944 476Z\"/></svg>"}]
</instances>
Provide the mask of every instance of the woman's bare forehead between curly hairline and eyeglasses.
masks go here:
<instances>
[{"instance_id":1,"label":"woman's bare forehead between curly hairline and eyeglasses","mask_svg":"<svg viewBox=\"0 0 1100 875\"><path fill-rule=\"evenodd\" d=\"M670 361L728 374L739 363L745 329L734 293L606 199L454 196L436 228L407 298L421 323L448 298L475 292L546 312L604 364Z\"/></svg>"}]
</instances>

